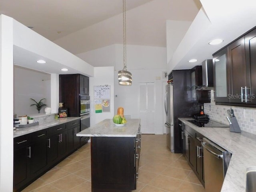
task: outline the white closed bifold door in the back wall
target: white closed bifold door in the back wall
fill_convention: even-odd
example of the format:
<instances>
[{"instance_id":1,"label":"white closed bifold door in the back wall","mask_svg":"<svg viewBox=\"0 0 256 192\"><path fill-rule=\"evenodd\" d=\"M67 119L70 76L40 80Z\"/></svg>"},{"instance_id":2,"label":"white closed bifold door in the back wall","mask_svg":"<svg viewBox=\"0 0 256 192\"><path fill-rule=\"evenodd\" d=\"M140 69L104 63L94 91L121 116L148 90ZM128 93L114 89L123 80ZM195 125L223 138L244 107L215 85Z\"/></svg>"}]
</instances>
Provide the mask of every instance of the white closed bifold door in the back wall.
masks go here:
<instances>
[{"instance_id":1,"label":"white closed bifold door in the back wall","mask_svg":"<svg viewBox=\"0 0 256 192\"><path fill-rule=\"evenodd\" d=\"M140 83L139 94L141 132L155 134L155 83Z\"/></svg>"}]
</instances>

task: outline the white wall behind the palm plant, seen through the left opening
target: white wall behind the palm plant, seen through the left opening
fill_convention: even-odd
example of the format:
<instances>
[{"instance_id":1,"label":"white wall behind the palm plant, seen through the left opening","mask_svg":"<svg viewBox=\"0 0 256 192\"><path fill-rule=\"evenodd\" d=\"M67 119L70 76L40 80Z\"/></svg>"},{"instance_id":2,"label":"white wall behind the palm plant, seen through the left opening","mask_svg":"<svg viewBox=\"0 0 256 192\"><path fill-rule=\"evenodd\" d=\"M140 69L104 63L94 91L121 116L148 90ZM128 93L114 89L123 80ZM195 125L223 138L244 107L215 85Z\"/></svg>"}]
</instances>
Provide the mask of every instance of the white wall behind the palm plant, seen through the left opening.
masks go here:
<instances>
[{"instance_id":1,"label":"white wall behind the palm plant, seen through the left opening","mask_svg":"<svg viewBox=\"0 0 256 192\"><path fill-rule=\"evenodd\" d=\"M51 107L50 96L50 74L43 72L14 66L14 113L18 116L37 114L36 106L30 98L33 98L37 102L42 98L46 98L42 102ZM40 110L40 113L44 112L45 107Z\"/></svg>"}]
</instances>

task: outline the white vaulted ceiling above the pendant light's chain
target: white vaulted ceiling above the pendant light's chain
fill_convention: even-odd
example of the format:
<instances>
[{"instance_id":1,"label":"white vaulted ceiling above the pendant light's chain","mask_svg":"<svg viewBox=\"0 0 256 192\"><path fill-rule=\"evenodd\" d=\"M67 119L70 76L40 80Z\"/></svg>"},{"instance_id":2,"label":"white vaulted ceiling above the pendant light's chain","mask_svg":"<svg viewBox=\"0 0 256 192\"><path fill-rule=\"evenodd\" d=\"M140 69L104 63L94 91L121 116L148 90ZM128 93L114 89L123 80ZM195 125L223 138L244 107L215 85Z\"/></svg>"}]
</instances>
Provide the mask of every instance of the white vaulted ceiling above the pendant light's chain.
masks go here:
<instances>
[{"instance_id":1,"label":"white vaulted ceiling above the pendant light's chain","mask_svg":"<svg viewBox=\"0 0 256 192\"><path fill-rule=\"evenodd\" d=\"M193 21L200 7L200 0L126 0L127 44L166 47L166 20ZM123 43L122 0L0 0L0 14L72 54Z\"/></svg>"}]
</instances>

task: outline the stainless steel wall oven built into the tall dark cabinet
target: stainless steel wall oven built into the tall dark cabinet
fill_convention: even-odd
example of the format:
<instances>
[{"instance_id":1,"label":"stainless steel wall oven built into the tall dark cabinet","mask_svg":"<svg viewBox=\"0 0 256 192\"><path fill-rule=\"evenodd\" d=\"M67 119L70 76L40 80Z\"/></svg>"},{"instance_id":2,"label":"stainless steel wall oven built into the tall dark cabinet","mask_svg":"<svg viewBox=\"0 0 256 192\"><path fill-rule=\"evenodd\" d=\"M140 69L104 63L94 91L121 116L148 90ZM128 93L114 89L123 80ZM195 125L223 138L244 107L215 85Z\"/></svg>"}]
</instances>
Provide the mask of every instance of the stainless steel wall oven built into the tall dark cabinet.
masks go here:
<instances>
[{"instance_id":1,"label":"stainless steel wall oven built into the tall dark cabinet","mask_svg":"<svg viewBox=\"0 0 256 192\"><path fill-rule=\"evenodd\" d=\"M90 96L79 96L80 99L80 117L81 131L90 127ZM86 144L90 137L80 137L81 146Z\"/></svg>"}]
</instances>

